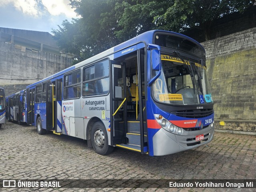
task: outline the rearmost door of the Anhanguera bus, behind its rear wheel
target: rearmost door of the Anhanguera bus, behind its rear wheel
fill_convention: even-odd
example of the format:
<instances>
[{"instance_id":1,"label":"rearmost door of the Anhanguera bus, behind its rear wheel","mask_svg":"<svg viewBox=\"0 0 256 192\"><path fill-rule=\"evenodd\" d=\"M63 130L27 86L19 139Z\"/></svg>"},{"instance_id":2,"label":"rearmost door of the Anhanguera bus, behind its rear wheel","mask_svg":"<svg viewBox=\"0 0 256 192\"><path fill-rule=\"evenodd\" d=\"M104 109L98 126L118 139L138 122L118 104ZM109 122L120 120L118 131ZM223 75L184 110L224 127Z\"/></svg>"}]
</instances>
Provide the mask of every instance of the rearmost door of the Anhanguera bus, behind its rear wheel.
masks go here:
<instances>
[{"instance_id":1,"label":"rearmost door of the Anhanguera bus, behind its rear wheel","mask_svg":"<svg viewBox=\"0 0 256 192\"><path fill-rule=\"evenodd\" d=\"M27 124L33 125L34 123L34 94L35 89L27 89Z\"/></svg>"}]
</instances>

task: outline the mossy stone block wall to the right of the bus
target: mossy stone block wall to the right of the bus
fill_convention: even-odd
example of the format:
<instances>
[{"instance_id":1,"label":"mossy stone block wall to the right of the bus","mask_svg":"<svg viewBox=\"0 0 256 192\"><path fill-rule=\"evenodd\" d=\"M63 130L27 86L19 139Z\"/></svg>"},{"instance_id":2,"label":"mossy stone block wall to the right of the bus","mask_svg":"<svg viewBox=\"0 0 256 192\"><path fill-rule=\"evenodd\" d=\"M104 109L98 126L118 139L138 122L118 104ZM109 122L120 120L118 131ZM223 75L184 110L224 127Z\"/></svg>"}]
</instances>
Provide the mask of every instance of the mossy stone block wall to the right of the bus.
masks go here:
<instances>
[{"instance_id":1,"label":"mossy stone block wall to the right of the bus","mask_svg":"<svg viewBox=\"0 0 256 192\"><path fill-rule=\"evenodd\" d=\"M256 28L202 43L217 129L256 129ZM220 121L225 125L220 126Z\"/></svg>"}]
</instances>

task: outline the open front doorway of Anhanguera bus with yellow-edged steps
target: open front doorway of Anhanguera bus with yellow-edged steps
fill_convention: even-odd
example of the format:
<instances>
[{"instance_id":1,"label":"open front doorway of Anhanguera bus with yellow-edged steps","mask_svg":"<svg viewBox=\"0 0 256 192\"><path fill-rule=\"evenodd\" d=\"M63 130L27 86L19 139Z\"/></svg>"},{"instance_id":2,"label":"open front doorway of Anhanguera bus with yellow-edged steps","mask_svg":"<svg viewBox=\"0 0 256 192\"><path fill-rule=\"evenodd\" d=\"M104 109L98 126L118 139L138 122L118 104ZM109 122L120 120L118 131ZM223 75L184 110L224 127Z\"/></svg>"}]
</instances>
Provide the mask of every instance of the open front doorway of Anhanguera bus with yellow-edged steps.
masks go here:
<instances>
[{"instance_id":1,"label":"open front doorway of Anhanguera bus with yellow-edged steps","mask_svg":"<svg viewBox=\"0 0 256 192\"><path fill-rule=\"evenodd\" d=\"M148 151L144 47L119 57L111 66L112 144L143 154Z\"/></svg>"}]
</instances>

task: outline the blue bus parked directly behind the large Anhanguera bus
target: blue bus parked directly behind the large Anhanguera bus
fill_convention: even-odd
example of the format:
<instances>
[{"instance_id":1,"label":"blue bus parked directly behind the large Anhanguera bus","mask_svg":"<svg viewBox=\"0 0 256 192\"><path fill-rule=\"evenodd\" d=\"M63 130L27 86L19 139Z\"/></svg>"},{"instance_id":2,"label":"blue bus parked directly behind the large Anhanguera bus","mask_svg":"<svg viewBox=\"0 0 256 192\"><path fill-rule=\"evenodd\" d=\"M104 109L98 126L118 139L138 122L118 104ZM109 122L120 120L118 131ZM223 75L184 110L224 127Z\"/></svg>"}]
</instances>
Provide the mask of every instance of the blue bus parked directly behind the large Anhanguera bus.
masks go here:
<instances>
[{"instance_id":1,"label":"blue bus parked directly behind the large Anhanguera bus","mask_svg":"<svg viewBox=\"0 0 256 192\"><path fill-rule=\"evenodd\" d=\"M6 119L8 121L16 121L26 123L26 90L6 97Z\"/></svg>"}]
</instances>

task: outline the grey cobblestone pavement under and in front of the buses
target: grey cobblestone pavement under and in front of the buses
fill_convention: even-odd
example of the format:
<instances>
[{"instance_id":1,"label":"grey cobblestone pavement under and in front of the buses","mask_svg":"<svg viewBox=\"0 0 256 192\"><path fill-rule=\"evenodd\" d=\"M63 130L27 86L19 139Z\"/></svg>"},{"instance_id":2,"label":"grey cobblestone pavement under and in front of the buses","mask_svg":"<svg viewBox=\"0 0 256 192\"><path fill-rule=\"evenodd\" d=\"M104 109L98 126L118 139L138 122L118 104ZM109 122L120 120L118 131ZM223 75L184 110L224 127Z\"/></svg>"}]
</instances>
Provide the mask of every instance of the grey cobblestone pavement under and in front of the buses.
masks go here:
<instances>
[{"instance_id":1,"label":"grey cobblestone pavement under and in front of the buses","mask_svg":"<svg viewBox=\"0 0 256 192\"><path fill-rule=\"evenodd\" d=\"M256 137L215 133L214 141L184 152L151 157L116 148L101 156L87 141L38 135L36 128L6 123L0 129L0 179L256 179ZM157 187L157 186L156 186ZM29 188L2 188L32 191ZM255 191L238 188L40 188L40 191Z\"/></svg>"}]
</instances>

